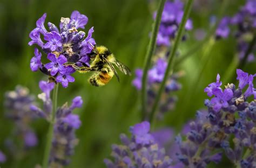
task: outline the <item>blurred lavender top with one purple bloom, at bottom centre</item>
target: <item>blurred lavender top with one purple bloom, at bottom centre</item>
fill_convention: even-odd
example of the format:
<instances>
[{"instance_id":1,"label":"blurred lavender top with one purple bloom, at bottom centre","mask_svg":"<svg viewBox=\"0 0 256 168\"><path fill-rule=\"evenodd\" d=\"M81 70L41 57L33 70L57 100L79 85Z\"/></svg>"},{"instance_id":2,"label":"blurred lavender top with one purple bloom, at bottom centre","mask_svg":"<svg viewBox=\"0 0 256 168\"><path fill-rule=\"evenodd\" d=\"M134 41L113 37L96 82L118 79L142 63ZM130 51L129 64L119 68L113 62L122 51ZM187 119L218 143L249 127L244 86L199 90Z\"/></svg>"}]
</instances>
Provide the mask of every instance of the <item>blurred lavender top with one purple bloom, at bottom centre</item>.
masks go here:
<instances>
[{"instance_id":1,"label":"blurred lavender top with one purple bloom, at bottom centre","mask_svg":"<svg viewBox=\"0 0 256 168\"><path fill-rule=\"evenodd\" d=\"M104 159L107 167L170 167L172 160L159 148L150 134L150 123L144 121L130 128L132 137L120 135L123 145L112 145L113 162Z\"/></svg>"}]
</instances>

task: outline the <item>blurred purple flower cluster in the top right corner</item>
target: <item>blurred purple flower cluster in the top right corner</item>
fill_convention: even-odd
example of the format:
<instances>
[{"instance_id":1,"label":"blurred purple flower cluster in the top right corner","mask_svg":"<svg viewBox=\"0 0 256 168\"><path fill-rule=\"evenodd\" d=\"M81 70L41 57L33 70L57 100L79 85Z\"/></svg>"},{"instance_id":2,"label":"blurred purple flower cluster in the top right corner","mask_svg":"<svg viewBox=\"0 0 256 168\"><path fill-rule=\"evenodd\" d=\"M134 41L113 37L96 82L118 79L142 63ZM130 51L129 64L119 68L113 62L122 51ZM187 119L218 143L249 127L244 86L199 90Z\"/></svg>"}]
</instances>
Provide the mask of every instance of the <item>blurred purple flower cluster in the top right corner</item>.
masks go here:
<instances>
[{"instance_id":1,"label":"blurred purple flower cluster in the top right corner","mask_svg":"<svg viewBox=\"0 0 256 168\"><path fill-rule=\"evenodd\" d=\"M227 38L230 34L230 26L235 27L234 36L238 39L239 59L243 59L249 47L250 41L255 36L256 30L256 1L247 0L246 4L233 17L224 17L216 30L217 38ZM247 61L254 60L256 47L248 55Z\"/></svg>"}]
</instances>

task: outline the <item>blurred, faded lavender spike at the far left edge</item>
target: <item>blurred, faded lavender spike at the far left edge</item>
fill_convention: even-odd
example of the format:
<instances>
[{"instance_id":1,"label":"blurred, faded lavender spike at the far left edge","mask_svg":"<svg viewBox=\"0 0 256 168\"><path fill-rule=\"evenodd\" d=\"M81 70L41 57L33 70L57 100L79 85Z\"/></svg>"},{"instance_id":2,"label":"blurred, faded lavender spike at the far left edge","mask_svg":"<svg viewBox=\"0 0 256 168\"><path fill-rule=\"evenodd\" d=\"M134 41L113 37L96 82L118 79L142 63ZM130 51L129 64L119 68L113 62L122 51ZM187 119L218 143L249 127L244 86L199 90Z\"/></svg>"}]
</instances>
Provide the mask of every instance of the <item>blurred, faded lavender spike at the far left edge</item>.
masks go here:
<instances>
[{"instance_id":1,"label":"blurred, faded lavender spike at the far left edge","mask_svg":"<svg viewBox=\"0 0 256 168\"><path fill-rule=\"evenodd\" d=\"M5 93L5 116L14 121L15 127L9 138L5 140L5 145L12 155L16 156L18 151L24 151L37 145L37 136L30 124L35 120L36 115L30 110L30 105L34 102L34 97L29 94L29 90L22 86L17 86L14 91ZM20 137L17 139L17 137ZM24 146L19 149L19 143ZM16 141L17 144L16 144Z\"/></svg>"}]
</instances>

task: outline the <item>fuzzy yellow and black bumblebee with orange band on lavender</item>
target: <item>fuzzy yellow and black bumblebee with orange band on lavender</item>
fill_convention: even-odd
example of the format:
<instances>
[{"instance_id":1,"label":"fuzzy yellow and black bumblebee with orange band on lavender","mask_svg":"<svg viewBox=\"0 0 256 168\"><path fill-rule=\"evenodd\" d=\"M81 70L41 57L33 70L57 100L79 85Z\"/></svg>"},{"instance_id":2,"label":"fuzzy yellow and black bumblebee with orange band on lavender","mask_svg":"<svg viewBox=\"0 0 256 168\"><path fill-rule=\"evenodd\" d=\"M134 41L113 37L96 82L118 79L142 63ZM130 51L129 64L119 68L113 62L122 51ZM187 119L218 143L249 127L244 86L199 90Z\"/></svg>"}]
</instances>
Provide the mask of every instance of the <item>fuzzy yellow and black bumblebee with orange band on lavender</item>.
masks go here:
<instances>
[{"instance_id":1,"label":"fuzzy yellow and black bumblebee with orange band on lavender","mask_svg":"<svg viewBox=\"0 0 256 168\"><path fill-rule=\"evenodd\" d=\"M114 75L116 75L119 82L119 76L113 65L117 66L124 74L131 75L130 69L118 61L105 46L93 47L89 57L92 60L90 67L86 67L85 65L84 67L72 65L72 67L79 73L95 71L95 73L93 73L89 78L89 82L93 86L106 85L106 83L108 83Z\"/></svg>"}]
</instances>

